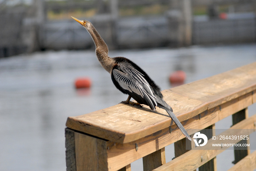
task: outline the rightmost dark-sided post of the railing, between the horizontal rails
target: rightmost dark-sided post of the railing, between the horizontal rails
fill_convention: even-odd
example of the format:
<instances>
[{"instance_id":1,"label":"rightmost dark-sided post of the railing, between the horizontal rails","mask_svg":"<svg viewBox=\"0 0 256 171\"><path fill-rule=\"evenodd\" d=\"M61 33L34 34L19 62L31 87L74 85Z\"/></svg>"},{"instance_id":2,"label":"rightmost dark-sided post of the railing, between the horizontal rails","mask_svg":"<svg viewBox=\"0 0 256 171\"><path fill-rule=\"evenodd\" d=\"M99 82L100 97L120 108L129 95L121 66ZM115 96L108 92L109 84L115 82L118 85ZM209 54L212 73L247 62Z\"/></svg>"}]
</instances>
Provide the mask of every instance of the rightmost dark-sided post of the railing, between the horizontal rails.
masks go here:
<instances>
[{"instance_id":1,"label":"rightmost dark-sided post of the railing, between the horizontal rails","mask_svg":"<svg viewBox=\"0 0 256 171\"><path fill-rule=\"evenodd\" d=\"M236 123L238 123L246 118L248 118L248 108L247 107L232 115L233 125L235 125ZM241 140L237 144L249 144L249 139ZM232 162L234 164L236 164L238 161L240 161L245 156L250 154L250 147L246 147L246 149L244 149L244 150L237 150L237 148L241 148L241 147L234 147L235 160Z\"/></svg>"}]
</instances>

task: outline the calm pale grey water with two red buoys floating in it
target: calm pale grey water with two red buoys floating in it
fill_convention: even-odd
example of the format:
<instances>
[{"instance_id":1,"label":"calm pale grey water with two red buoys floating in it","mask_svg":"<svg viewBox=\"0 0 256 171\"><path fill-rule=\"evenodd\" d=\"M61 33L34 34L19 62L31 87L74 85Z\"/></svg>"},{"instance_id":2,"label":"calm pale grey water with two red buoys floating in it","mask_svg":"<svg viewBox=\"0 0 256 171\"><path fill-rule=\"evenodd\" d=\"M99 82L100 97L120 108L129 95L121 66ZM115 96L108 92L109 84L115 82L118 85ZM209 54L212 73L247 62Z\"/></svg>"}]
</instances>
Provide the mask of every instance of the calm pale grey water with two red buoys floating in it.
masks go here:
<instances>
[{"instance_id":1,"label":"calm pale grey water with two red buoys floating in it","mask_svg":"<svg viewBox=\"0 0 256 171\"><path fill-rule=\"evenodd\" d=\"M171 88L168 77L177 69L186 72L189 83L255 62L256 44L118 50L109 55L131 59L164 90ZM75 90L74 80L80 76L91 78L89 90ZM116 90L93 50L0 59L0 170L65 170L67 117L104 109L126 98ZM217 125L225 129L227 124ZM166 148L167 161L174 156L171 147ZM225 155L230 154L222 158L230 158ZM232 166L218 157L218 170ZM132 170L142 170L142 161L132 163Z\"/></svg>"}]
</instances>

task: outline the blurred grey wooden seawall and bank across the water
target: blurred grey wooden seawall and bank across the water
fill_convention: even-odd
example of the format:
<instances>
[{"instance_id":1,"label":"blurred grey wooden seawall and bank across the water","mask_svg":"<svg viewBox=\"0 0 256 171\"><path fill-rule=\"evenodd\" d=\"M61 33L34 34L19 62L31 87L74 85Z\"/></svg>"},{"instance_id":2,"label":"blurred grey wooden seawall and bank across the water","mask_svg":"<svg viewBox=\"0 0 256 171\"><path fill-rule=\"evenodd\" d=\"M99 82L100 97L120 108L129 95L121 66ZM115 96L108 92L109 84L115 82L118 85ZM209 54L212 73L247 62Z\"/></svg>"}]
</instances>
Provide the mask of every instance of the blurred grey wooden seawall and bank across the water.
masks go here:
<instances>
[{"instance_id":1,"label":"blurred grey wooden seawall and bank across the water","mask_svg":"<svg viewBox=\"0 0 256 171\"><path fill-rule=\"evenodd\" d=\"M0 57L88 49L87 19L110 49L255 42L255 0L0 0Z\"/></svg>"}]
</instances>

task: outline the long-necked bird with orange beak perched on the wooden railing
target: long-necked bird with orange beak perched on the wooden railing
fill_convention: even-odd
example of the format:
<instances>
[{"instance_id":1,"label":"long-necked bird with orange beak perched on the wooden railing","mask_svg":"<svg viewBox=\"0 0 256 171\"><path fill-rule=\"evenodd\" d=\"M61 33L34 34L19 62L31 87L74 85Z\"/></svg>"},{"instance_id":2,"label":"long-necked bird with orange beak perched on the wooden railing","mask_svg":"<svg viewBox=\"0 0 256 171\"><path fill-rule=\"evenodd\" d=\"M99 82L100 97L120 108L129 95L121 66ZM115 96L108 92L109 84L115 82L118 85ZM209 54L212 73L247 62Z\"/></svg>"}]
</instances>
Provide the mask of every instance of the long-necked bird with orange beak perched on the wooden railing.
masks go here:
<instances>
[{"instance_id":1,"label":"long-necked bird with orange beak perched on the wooden railing","mask_svg":"<svg viewBox=\"0 0 256 171\"><path fill-rule=\"evenodd\" d=\"M172 107L163 100L160 88L147 73L128 58L109 57L108 46L93 24L87 20L72 18L80 23L91 35L95 44L95 53L98 61L110 73L116 88L124 94L128 94L127 100L123 101L123 103L139 106L140 104L145 104L153 111L155 111L156 107L166 110L184 136L191 141L191 137L174 115ZM131 98L136 100L137 103L131 102Z\"/></svg>"}]
</instances>

